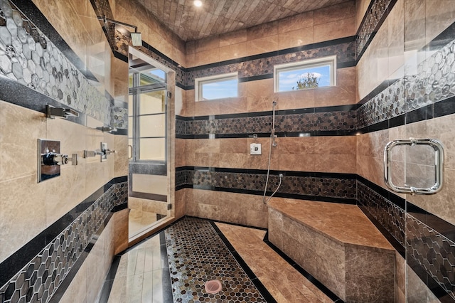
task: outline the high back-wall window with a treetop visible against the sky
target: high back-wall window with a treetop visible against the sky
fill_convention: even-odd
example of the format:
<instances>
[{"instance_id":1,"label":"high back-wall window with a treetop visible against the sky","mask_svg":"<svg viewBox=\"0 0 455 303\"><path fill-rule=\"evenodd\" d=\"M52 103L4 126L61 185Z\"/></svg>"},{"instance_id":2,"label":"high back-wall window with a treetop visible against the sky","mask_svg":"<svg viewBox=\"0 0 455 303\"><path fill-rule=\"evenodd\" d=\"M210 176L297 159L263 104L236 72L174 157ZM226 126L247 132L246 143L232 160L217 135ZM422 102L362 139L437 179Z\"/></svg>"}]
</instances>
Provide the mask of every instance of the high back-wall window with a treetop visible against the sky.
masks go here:
<instances>
[{"instance_id":1,"label":"high back-wall window with a treetop visible against the sky","mask_svg":"<svg viewBox=\"0 0 455 303\"><path fill-rule=\"evenodd\" d=\"M275 65L275 92L335 85L336 56Z\"/></svg>"}]
</instances>

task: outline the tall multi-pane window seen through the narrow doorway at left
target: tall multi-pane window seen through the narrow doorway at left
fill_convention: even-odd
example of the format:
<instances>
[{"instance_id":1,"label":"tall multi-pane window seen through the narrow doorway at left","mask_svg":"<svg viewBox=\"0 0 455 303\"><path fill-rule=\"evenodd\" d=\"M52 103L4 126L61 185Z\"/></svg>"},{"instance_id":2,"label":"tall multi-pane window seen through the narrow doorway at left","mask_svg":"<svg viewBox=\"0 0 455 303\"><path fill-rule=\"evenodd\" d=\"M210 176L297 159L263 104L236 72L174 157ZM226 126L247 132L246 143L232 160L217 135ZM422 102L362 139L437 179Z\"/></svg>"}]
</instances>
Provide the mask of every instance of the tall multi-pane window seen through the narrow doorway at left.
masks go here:
<instances>
[{"instance_id":1,"label":"tall multi-pane window seen through the narrow doorway at left","mask_svg":"<svg viewBox=\"0 0 455 303\"><path fill-rule=\"evenodd\" d=\"M166 162L166 73L130 59L128 141L130 159Z\"/></svg>"}]
</instances>

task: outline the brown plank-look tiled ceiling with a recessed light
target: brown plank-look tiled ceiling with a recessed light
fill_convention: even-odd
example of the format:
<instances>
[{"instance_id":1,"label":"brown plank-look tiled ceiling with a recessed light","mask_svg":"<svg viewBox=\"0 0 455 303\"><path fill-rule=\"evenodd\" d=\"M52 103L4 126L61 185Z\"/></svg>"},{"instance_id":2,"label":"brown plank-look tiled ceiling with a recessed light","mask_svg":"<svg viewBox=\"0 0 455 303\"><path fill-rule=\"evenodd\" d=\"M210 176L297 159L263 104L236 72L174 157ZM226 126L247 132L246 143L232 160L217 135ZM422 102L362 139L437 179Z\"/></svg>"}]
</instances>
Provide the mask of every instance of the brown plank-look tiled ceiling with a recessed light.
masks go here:
<instances>
[{"instance_id":1,"label":"brown plank-look tiled ceiling with a recessed light","mask_svg":"<svg viewBox=\"0 0 455 303\"><path fill-rule=\"evenodd\" d=\"M183 41L237 31L348 0L137 0Z\"/></svg>"}]
</instances>

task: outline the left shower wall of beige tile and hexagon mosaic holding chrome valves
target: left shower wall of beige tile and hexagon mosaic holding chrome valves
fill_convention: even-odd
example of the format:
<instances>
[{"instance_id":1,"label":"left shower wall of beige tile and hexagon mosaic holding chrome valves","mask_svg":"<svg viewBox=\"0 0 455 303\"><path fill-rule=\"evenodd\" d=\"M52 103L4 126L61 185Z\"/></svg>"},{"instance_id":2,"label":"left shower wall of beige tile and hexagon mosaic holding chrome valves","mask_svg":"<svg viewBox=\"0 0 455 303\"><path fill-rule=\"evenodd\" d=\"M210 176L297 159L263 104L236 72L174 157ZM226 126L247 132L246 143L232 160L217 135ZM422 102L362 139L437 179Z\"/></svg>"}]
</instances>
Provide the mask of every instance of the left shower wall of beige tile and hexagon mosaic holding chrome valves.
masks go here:
<instances>
[{"instance_id":1,"label":"left shower wall of beige tile and hexagon mosaic holding chrome valves","mask_svg":"<svg viewBox=\"0 0 455 303\"><path fill-rule=\"evenodd\" d=\"M57 300L73 281L93 302L128 235L127 138L96 129L111 124L115 80L105 50L113 55L99 23L68 22L77 13L92 18L84 14L90 1L64 10L60 3L37 4L0 2L0 301ZM53 14L68 22L66 30L50 25ZM80 116L47 119L46 104ZM59 177L38 184L38 138L77 153L77 166L62 166ZM100 142L117 154L105 162L82 157Z\"/></svg>"}]
</instances>

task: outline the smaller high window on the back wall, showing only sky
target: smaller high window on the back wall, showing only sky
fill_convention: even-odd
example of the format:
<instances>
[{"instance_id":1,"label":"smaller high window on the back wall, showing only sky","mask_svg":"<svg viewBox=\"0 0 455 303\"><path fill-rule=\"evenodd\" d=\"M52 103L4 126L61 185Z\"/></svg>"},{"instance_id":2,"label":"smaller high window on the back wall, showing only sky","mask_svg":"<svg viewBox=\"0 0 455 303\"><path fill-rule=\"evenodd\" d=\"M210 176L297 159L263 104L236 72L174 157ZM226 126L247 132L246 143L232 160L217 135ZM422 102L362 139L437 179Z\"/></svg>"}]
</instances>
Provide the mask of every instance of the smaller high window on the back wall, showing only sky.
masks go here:
<instances>
[{"instance_id":1,"label":"smaller high window on the back wall, showing only sky","mask_svg":"<svg viewBox=\"0 0 455 303\"><path fill-rule=\"evenodd\" d=\"M237 97L238 83L237 73L196 78L196 101Z\"/></svg>"}]
</instances>

